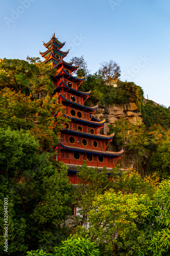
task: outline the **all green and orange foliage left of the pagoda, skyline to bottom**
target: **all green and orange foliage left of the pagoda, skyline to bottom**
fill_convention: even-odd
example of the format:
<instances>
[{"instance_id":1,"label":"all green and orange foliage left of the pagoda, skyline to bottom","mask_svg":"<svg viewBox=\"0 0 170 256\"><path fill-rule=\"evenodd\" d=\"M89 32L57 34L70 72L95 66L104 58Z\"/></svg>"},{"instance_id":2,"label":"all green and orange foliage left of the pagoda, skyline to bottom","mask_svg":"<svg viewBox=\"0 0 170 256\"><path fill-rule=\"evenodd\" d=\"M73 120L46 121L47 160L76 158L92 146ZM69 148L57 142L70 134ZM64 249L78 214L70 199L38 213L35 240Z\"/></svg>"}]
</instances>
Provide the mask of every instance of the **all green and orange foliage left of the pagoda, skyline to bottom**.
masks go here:
<instances>
[{"instance_id":1,"label":"all green and orange foliage left of the pagoda, skyline to bottom","mask_svg":"<svg viewBox=\"0 0 170 256\"><path fill-rule=\"evenodd\" d=\"M65 219L71 212L68 203L74 191L65 166L57 165L57 153L52 151L66 120L58 98L50 96L52 69L35 58L29 61L3 61L0 71L0 79L10 81L4 88L6 83L1 80L0 91L0 211L3 216L3 199L8 198L11 256L25 255L37 245L53 251L68 236ZM9 65L6 71L5 65ZM27 73L29 69L31 73ZM37 99L41 87L44 97ZM0 223L4 225L3 218ZM0 241L2 254L3 230Z\"/></svg>"}]
</instances>

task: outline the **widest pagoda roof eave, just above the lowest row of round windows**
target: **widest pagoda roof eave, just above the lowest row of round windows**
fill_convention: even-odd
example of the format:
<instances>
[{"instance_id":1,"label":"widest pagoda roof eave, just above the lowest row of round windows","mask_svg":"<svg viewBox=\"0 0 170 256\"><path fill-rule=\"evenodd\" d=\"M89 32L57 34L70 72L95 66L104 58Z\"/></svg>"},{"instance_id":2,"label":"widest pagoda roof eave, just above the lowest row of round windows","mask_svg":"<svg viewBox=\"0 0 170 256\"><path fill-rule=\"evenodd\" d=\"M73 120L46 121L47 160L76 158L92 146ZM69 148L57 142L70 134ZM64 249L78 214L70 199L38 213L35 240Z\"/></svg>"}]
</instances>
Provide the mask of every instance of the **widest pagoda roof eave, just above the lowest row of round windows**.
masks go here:
<instances>
[{"instance_id":1,"label":"widest pagoda roof eave, just above the lowest row of round windows","mask_svg":"<svg viewBox=\"0 0 170 256\"><path fill-rule=\"evenodd\" d=\"M79 147L71 147L71 146L64 146L61 142L59 144L59 148L63 148L66 150L71 150L71 151L78 151L78 152L85 152L85 153L92 153L95 155L105 155L105 156L121 156L124 151L119 151L119 152L111 152L111 151L96 151L96 150L85 150L84 148L79 148ZM55 150L55 148L54 148Z\"/></svg>"}]
</instances>

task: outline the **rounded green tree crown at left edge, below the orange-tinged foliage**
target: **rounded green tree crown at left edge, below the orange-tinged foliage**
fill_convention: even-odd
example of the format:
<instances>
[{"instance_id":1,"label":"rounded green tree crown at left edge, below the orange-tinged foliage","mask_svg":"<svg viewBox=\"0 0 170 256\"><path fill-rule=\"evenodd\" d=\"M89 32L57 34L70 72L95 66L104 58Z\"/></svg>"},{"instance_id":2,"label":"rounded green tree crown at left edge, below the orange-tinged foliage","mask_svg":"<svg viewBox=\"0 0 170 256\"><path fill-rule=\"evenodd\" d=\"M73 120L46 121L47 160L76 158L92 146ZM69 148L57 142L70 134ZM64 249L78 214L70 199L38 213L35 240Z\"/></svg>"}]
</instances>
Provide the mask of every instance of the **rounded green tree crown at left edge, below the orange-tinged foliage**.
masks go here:
<instances>
[{"instance_id":1,"label":"rounded green tree crown at left edge, below the orange-tinged foliage","mask_svg":"<svg viewBox=\"0 0 170 256\"><path fill-rule=\"evenodd\" d=\"M11 131L0 128L0 174L14 178L32 168L36 161L38 142L30 131Z\"/></svg>"}]
</instances>

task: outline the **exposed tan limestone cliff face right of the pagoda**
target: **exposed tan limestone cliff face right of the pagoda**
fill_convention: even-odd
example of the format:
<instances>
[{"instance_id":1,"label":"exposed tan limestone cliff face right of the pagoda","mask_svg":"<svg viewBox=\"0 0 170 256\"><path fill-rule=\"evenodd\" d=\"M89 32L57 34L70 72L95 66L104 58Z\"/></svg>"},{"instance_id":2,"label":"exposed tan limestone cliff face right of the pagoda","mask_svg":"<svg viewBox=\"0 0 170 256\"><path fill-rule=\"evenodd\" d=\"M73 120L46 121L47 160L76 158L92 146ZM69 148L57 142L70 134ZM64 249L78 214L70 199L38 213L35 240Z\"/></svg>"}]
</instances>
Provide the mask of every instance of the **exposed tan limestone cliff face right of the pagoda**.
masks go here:
<instances>
[{"instance_id":1,"label":"exposed tan limestone cliff face right of the pagoda","mask_svg":"<svg viewBox=\"0 0 170 256\"><path fill-rule=\"evenodd\" d=\"M130 120L130 122L135 123L137 120L139 122L142 122L142 114L138 112L137 106L135 102L129 102L127 104L113 104L113 105L106 105L106 106L99 106L97 111L94 115L95 118L99 120L106 119L106 123L104 124L104 129L101 131L101 133L107 135L109 132L109 124L114 124L116 120L119 120L120 118L125 118ZM108 151L118 151L121 148L116 148L116 146L113 143L109 144ZM137 167L136 158L133 155L126 156L123 154L122 158L118 160L120 164L120 167L126 168L130 167L133 164L133 167ZM139 168L139 173L141 176L144 176L143 168Z\"/></svg>"}]
</instances>

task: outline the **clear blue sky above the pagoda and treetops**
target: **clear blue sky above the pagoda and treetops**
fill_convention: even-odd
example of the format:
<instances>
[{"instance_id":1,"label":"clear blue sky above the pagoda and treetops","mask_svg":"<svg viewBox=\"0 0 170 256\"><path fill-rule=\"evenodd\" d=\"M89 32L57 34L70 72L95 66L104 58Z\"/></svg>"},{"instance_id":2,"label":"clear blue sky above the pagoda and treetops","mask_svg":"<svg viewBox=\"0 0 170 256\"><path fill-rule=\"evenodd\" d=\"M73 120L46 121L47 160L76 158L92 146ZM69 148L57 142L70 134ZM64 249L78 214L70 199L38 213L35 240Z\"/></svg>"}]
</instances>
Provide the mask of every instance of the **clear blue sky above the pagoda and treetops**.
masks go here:
<instances>
[{"instance_id":1,"label":"clear blue sky above the pagoda and treetops","mask_svg":"<svg viewBox=\"0 0 170 256\"><path fill-rule=\"evenodd\" d=\"M65 58L84 55L91 73L113 59L120 80L170 105L169 0L1 0L0 58L38 57L55 35Z\"/></svg>"}]
</instances>

